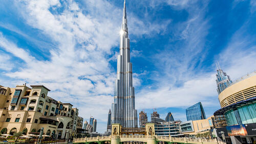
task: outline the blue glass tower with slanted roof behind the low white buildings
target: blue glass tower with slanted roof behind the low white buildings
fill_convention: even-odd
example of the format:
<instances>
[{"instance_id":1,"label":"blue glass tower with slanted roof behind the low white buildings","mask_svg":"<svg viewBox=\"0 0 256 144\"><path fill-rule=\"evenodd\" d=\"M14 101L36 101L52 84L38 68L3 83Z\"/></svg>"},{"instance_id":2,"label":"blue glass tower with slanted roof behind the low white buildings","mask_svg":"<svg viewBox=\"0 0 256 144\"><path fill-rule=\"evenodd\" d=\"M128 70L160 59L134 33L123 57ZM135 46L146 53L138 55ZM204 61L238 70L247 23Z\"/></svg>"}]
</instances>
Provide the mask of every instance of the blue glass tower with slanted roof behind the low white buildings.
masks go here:
<instances>
[{"instance_id":1,"label":"blue glass tower with slanted roof behind the low white buildings","mask_svg":"<svg viewBox=\"0 0 256 144\"><path fill-rule=\"evenodd\" d=\"M196 121L206 119L204 108L201 102L186 108L187 121Z\"/></svg>"}]
</instances>

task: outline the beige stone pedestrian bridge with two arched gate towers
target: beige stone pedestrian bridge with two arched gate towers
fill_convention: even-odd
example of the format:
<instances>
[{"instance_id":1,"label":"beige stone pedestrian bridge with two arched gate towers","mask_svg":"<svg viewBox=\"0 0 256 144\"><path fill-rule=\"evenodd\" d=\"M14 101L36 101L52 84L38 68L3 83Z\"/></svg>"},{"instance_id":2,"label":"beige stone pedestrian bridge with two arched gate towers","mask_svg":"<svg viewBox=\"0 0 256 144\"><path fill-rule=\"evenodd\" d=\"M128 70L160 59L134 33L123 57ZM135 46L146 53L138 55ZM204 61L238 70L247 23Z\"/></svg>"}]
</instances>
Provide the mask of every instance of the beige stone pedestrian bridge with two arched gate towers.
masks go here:
<instances>
[{"instance_id":1,"label":"beige stone pedestrian bridge with two arched gate towers","mask_svg":"<svg viewBox=\"0 0 256 144\"><path fill-rule=\"evenodd\" d=\"M112 124L112 133L110 136L97 136L97 137L85 137L85 138L75 138L73 143L130 143L131 141L145 142L147 144L161 143L201 143L201 144L224 144L223 142L218 142L217 139L201 139L201 138L186 138L186 137L166 137L155 135L155 127L153 123L147 123L144 131L141 128L137 128L138 133L136 133L136 128L122 128L120 124ZM133 134L133 135L131 135ZM134 135L137 134L137 135ZM136 142L134 142L136 143Z\"/></svg>"}]
</instances>

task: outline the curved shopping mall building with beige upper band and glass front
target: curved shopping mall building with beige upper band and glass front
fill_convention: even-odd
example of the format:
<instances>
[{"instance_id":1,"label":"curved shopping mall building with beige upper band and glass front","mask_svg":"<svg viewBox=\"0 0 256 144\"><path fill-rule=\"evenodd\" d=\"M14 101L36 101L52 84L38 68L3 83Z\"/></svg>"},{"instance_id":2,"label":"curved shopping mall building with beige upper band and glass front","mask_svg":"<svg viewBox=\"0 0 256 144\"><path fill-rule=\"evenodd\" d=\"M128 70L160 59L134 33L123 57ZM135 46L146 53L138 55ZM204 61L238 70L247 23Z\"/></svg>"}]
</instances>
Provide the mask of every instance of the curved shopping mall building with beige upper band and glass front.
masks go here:
<instances>
[{"instance_id":1,"label":"curved shopping mall building with beige upper band and glass front","mask_svg":"<svg viewBox=\"0 0 256 144\"><path fill-rule=\"evenodd\" d=\"M216 128L214 135L227 143L256 142L256 72L233 81L219 101L222 108L214 116L224 116L227 126Z\"/></svg>"}]
</instances>

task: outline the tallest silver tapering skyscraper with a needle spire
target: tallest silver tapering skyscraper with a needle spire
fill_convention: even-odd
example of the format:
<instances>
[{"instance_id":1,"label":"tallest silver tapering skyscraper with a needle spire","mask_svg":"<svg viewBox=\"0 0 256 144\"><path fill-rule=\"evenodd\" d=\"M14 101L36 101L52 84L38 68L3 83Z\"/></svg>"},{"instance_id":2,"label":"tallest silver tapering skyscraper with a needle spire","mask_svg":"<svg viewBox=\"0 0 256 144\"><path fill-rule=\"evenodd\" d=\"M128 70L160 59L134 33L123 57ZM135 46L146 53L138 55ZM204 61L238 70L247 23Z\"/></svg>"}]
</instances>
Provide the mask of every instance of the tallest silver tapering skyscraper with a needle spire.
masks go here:
<instances>
[{"instance_id":1,"label":"tallest silver tapering skyscraper with a needle spire","mask_svg":"<svg viewBox=\"0 0 256 144\"><path fill-rule=\"evenodd\" d=\"M120 53L117 56L117 78L115 80L114 103L112 103L112 123L123 127L138 127L133 70L130 62L130 39L126 19L125 1L123 3L122 30L120 31Z\"/></svg>"}]
</instances>

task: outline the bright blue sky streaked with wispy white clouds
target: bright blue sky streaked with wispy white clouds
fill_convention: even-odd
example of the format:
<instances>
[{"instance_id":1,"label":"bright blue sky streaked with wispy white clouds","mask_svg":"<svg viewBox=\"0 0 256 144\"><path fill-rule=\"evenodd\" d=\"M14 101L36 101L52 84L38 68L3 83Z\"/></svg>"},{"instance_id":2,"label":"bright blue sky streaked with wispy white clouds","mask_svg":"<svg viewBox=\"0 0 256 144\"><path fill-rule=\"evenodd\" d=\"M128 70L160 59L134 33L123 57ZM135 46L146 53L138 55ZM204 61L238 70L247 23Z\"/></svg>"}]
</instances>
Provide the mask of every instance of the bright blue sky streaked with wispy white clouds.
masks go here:
<instances>
[{"instance_id":1,"label":"bright blue sky streaked with wispy white clouds","mask_svg":"<svg viewBox=\"0 0 256 144\"><path fill-rule=\"evenodd\" d=\"M116 78L122 0L3 0L0 85L42 84L106 131ZM220 108L216 66L237 79L256 69L256 1L126 0L138 113L186 121ZM150 120L150 118L149 118Z\"/></svg>"}]
</instances>

